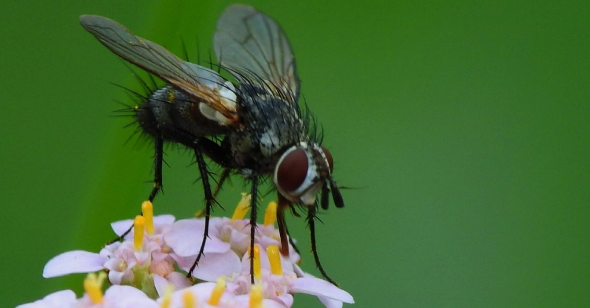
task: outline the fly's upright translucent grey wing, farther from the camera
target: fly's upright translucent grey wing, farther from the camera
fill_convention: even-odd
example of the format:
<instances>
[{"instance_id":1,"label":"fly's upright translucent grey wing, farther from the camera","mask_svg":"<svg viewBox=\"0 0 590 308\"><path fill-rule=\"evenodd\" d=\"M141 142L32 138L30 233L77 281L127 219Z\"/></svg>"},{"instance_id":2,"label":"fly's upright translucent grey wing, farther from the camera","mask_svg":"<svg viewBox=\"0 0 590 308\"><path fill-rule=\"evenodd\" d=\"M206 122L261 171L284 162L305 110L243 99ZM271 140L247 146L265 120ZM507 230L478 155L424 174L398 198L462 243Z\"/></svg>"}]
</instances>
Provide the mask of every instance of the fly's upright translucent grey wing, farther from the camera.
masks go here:
<instances>
[{"instance_id":1,"label":"fly's upright translucent grey wing, farther from the camera","mask_svg":"<svg viewBox=\"0 0 590 308\"><path fill-rule=\"evenodd\" d=\"M232 5L217 22L215 55L240 81L265 86L289 102L299 97L293 51L281 27L247 5Z\"/></svg>"}]
</instances>

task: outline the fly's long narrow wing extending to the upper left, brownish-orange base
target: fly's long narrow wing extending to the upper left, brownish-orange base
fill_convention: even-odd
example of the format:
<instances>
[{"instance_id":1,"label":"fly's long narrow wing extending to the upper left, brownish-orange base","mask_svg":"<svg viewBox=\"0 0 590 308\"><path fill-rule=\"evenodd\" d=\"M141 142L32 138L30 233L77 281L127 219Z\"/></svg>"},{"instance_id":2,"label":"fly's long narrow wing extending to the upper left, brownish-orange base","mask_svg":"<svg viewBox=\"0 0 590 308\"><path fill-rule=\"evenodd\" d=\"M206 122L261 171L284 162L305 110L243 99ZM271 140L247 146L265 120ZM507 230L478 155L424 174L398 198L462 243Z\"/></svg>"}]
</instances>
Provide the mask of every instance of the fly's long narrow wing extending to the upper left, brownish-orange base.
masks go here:
<instances>
[{"instance_id":1,"label":"fly's long narrow wing extending to the upper left, brownish-orange base","mask_svg":"<svg viewBox=\"0 0 590 308\"><path fill-rule=\"evenodd\" d=\"M82 15L80 24L119 57L198 98L205 104L199 104L205 117L222 125L238 122L235 88L217 72L183 61L160 45L136 37L112 19Z\"/></svg>"}]
</instances>

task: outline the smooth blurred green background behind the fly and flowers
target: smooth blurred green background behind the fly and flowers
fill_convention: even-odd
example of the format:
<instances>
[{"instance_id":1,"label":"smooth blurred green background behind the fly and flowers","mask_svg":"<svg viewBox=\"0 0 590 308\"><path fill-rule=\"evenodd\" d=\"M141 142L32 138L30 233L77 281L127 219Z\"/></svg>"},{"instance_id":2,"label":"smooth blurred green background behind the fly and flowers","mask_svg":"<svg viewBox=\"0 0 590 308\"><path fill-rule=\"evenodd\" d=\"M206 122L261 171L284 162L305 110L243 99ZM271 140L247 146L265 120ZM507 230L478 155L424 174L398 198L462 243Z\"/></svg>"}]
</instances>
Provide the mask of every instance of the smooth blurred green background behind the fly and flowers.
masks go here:
<instances>
[{"instance_id":1,"label":"smooth blurred green background behind the fly and flowers","mask_svg":"<svg viewBox=\"0 0 590 308\"><path fill-rule=\"evenodd\" d=\"M230 3L0 4L2 306L80 294L83 275L43 279L45 262L98 251L150 191L152 146L125 144L129 119L110 117L130 99L109 82L139 85L78 15L179 55L183 39L192 58L198 38L208 58ZM318 226L358 307L590 304L588 2L249 3L285 29L336 179L358 188ZM192 156L166 161L156 213L188 217L202 200ZM234 178L222 193L228 212L241 190ZM306 250L306 224L288 220Z\"/></svg>"}]
</instances>

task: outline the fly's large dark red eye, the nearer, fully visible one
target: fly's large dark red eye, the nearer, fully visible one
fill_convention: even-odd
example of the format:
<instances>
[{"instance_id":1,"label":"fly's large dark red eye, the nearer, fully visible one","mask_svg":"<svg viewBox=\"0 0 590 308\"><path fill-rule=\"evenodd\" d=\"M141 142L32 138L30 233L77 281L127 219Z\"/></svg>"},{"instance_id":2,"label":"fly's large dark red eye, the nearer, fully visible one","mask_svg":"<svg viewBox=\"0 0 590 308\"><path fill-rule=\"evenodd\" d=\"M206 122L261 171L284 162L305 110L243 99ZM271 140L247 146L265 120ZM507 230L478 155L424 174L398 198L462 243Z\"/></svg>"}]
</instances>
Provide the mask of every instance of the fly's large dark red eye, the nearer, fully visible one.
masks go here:
<instances>
[{"instance_id":1,"label":"fly's large dark red eye, the nearer, fully visible one","mask_svg":"<svg viewBox=\"0 0 590 308\"><path fill-rule=\"evenodd\" d=\"M294 191L303 184L309 163L305 151L297 148L281 160L277 169L277 184L284 191Z\"/></svg>"}]
</instances>

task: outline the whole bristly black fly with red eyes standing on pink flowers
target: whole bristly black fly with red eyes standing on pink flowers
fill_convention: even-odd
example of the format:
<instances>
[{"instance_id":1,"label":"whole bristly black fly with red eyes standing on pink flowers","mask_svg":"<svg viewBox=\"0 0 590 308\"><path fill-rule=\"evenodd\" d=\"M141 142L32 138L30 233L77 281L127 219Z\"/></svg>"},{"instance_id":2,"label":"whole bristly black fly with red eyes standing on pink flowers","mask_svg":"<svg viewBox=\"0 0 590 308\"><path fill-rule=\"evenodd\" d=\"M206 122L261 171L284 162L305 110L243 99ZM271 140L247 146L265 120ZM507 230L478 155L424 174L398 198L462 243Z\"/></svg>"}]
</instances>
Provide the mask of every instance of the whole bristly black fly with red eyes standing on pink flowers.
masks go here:
<instances>
[{"instance_id":1,"label":"whole bristly black fly with red eyes standing on pink flowers","mask_svg":"<svg viewBox=\"0 0 590 308\"><path fill-rule=\"evenodd\" d=\"M334 283L317 256L316 196L322 190L319 203L324 209L330 191L336 207L343 207L344 202L332 178L332 155L310 135L309 114L297 104L299 79L295 60L279 25L245 5L232 5L221 15L214 37L215 55L220 67L237 80L233 84L212 69L183 61L160 45L136 37L111 19L83 15L80 22L119 57L168 84L139 105L136 118L140 128L155 140L150 201L162 187L163 143L179 143L195 153L205 194L205 232L188 276L203 255L215 203L204 160L207 156L224 168L220 185L231 171L251 181L250 268L253 269L254 261L258 183L272 177L278 194L281 253L289 254L284 211L289 208L295 213L294 205L307 208L316 265ZM254 283L253 276L251 279Z\"/></svg>"}]
</instances>

